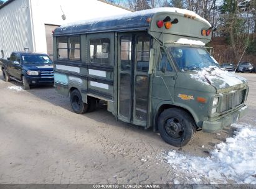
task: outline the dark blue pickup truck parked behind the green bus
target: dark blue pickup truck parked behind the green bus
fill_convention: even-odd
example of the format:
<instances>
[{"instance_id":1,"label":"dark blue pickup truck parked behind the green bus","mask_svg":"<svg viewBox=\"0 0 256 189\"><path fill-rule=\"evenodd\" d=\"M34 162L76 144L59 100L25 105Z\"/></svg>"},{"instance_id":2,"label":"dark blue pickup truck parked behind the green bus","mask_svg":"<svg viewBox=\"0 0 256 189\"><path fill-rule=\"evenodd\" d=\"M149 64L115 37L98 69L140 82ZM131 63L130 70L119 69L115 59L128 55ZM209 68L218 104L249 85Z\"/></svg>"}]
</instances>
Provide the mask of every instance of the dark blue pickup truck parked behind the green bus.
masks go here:
<instances>
[{"instance_id":1,"label":"dark blue pickup truck parked behind the green bus","mask_svg":"<svg viewBox=\"0 0 256 189\"><path fill-rule=\"evenodd\" d=\"M12 52L7 60L0 59L0 66L4 80L19 81L24 90L31 85L54 85L52 60L44 53Z\"/></svg>"}]
</instances>

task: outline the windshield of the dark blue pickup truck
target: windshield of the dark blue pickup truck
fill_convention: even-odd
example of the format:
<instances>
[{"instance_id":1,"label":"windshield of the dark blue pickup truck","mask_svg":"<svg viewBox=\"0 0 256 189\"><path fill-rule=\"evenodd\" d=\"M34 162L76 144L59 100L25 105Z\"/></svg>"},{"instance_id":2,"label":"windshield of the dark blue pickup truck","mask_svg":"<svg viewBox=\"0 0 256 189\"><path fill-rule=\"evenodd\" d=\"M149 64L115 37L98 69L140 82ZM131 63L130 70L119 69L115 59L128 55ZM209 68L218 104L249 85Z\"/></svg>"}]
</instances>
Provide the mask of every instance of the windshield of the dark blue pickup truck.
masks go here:
<instances>
[{"instance_id":1,"label":"windshield of the dark blue pickup truck","mask_svg":"<svg viewBox=\"0 0 256 189\"><path fill-rule=\"evenodd\" d=\"M46 55L22 55L24 64L52 64L52 60Z\"/></svg>"}]
</instances>

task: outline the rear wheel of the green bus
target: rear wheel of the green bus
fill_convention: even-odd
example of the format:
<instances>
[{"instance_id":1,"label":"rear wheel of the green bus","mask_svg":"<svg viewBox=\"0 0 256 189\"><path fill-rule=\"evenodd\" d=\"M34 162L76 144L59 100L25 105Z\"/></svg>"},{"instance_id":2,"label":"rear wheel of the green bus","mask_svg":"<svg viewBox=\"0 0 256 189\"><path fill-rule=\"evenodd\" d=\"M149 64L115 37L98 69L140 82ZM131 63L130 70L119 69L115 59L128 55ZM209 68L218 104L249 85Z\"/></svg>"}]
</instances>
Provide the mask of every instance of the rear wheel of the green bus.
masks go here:
<instances>
[{"instance_id":1,"label":"rear wheel of the green bus","mask_svg":"<svg viewBox=\"0 0 256 189\"><path fill-rule=\"evenodd\" d=\"M88 104L83 103L82 96L78 90L73 90L71 92L70 103L73 111L77 114L83 114L88 109Z\"/></svg>"}]
</instances>

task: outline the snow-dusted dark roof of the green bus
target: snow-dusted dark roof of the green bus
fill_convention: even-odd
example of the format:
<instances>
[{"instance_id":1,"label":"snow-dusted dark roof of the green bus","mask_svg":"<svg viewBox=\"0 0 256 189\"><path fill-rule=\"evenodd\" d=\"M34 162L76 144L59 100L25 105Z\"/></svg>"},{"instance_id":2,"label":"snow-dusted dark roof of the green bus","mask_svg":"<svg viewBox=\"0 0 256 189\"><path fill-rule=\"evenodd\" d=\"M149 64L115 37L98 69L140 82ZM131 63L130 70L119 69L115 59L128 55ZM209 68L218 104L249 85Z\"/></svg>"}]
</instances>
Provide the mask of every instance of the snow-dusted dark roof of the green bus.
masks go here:
<instances>
[{"instance_id":1,"label":"snow-dusted dark roof of the green bus","mask_svg":"<svg viewBox=\"0 0 256 189\"><path fill-rule=\"evenodd\" d=\"M196 20L209 24L196 13L186 9L178 9L174 7L164 7L156 9L148 9L144 11L131 12L129 14L116 15L111 17L101 17L87 21L73 22L61 25L54 31L54 35L75 35L97 32L113 32L113 31L130 31L130 30L147 30L149 29L148 18L152 18L158 12L167 12L169 14L189 14Z\"/></svg>"}]
</instances>

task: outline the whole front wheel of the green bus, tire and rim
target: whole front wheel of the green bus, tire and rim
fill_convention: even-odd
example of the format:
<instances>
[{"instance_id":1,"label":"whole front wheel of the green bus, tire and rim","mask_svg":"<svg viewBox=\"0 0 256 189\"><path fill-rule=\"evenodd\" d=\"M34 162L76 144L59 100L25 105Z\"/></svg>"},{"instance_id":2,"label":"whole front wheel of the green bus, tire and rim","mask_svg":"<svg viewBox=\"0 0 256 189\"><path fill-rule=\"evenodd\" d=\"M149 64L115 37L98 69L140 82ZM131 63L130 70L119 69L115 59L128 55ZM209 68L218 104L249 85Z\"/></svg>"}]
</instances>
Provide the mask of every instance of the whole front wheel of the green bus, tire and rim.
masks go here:
<instances>
[{"instance_id":1,"label":"whole front wheel of the green bus, tire and rim","mask_svg":"<svg viewBox=\"0 0 256 189\"><path fill-rule=\"evenodd\" d=\"M196 131L196 124L183 109L169 108L160 114L158 129L165 142L176 147L183 147L191 141Z\"/></svg>"}]
</instances>

